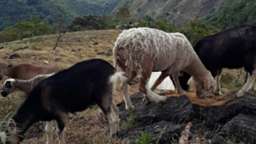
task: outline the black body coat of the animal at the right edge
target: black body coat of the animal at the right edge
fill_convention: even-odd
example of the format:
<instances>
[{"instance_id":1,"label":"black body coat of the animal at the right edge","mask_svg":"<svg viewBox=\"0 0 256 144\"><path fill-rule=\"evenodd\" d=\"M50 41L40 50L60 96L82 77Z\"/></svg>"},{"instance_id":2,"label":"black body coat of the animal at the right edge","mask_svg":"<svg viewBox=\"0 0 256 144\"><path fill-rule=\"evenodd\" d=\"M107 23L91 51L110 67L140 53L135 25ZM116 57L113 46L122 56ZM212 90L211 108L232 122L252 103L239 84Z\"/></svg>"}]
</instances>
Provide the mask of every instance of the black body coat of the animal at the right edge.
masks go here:
<instances>
[{"instance_id":1,"label":"black body coat of the animal at the right edge","mask_svg":"<svg viewBox=\"0 0 256 144\"><path fill-rule=\"evenodd\" d=\"M203 37L194 46L198 57L215 77L222 68L242 68L252 75L256 58L256 26L233 27ZM188 76L183 77L188 81ZM187 83L181 84L186 87Z\"/></svg>"}]
</instances>

